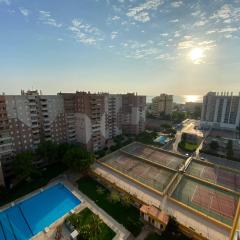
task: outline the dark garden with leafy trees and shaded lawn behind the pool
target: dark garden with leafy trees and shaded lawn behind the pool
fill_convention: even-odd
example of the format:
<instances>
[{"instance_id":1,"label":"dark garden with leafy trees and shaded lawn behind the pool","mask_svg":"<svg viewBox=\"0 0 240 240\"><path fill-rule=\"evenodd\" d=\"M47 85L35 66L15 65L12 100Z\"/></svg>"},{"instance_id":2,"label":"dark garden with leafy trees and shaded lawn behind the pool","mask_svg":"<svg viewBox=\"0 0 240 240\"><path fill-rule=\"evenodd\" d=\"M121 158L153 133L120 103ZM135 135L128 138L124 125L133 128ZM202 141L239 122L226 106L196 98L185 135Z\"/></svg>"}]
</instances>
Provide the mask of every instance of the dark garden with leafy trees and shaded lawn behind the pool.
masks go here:
<instances>
[{"instance_id":1,"label":"dark garden with leafy trees and shaded lawn behind the pool","mask_svg":"<svg viewBox=\"0 0 240 240\"><path fill-rule=\"evenodd\" d=\"M37 166L39 160L44 160L48 166ZM94 155L81 146L52 142L41 143L36 151L19 153L13 160L15 184L0 189L0 206L45 186L67 169L86 171L94 160ZM12 181L7 181L7 185L10 186Z\"/></svg>"}]
</instances>

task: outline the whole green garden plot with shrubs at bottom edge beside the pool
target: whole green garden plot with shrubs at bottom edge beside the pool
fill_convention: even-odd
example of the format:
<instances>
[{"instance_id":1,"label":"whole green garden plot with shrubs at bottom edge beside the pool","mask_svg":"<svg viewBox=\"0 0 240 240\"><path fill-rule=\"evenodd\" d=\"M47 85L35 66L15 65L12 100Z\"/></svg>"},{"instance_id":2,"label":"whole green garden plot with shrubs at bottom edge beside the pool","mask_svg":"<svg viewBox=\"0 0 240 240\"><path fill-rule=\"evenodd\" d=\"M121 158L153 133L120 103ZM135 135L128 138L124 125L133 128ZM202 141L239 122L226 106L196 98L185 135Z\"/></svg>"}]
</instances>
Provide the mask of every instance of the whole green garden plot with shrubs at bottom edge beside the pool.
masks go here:
<instances>
[{"instance_id":1,"label":"whole green garden plot with shrubs at bottom edge beside the pool","mask_svg":"<svg viewBox=\"0 0 240 240\"><path fill-rule=\"evenodd\" d=\"M66 219L79 232L79 240L111 240L116 233L89 208Z\"/></svg>"}]
</instances>

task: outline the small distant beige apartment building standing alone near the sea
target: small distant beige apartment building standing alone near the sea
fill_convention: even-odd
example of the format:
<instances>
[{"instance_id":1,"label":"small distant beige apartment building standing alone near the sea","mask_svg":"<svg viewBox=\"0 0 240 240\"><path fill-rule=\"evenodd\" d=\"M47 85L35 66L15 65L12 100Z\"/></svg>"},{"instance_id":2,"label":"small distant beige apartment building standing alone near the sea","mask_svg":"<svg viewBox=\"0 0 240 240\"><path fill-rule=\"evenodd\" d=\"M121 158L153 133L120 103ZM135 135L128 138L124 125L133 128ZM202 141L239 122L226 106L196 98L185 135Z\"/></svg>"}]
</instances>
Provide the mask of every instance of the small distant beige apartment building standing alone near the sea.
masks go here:
<instances>
[{"instance_id":1,"label":"small distant beige apartment building standing alone near the sea","mask_svg":"<svg viewBox=\"0 0 240 240\"><path fill-rule=\"evenodd\" d=\"M169 116L173 110L173 95L161 94L152 99L152 115L154 117Z\"/></svg>"}]
</instances>

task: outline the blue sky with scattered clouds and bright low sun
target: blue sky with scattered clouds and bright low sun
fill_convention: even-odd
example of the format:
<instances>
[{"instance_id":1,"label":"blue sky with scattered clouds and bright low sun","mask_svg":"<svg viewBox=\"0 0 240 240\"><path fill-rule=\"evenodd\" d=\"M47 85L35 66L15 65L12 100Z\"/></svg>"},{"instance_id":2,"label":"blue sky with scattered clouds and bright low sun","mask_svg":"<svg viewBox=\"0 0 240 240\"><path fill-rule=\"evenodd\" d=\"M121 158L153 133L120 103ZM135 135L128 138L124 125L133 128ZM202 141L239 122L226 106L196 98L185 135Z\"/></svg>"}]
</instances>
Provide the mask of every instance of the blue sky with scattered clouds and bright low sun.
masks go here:
<instances>
[{"instance_id":1,"label":"blue sky with scattered clouds and bright low sun","mask_svg":"<svg viewBox=\"0 0 240 240\"><path fill-rule=\"evenodd\" d=\"M240 91L240 0L0 0L0 93Z\"/></svg>"}]
</instances>

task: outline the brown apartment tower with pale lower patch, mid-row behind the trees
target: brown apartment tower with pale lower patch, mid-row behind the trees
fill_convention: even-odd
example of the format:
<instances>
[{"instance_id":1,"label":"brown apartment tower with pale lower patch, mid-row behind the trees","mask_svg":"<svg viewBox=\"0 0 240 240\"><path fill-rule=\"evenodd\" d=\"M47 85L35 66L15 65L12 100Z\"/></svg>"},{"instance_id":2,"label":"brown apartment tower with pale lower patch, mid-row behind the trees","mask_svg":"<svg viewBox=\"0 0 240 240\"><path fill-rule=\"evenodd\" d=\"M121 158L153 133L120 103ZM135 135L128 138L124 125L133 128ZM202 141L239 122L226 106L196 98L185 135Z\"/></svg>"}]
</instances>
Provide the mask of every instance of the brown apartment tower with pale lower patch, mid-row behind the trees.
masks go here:
<instances>
[{"instance_id":1,"label":"brown apartment tower with pale lower patch, mid-row behind the trees","mask_svg":"<svg viewBox=\"0 0 240 240\"><path fill-rule=\"evenodd\" d=\"M102 149L107 139L107 94L76 92L59 96L64 100L68 141L82 143L93 151Z\"/></svg>"}]
</instances>

